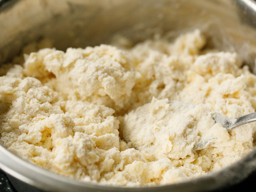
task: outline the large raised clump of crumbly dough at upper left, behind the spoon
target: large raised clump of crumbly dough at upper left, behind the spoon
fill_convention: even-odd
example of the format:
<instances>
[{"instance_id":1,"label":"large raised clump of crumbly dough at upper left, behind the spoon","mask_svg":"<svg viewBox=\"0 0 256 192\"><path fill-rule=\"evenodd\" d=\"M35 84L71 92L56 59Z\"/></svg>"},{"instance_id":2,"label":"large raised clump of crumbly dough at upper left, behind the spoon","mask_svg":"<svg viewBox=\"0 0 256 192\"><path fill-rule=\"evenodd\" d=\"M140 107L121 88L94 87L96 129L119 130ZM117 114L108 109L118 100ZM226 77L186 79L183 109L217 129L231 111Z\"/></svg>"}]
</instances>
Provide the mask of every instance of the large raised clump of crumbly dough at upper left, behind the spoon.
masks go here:
<instances>
[{"instance_id":1,"label":"large raised clump of crumbly dough at upper left, behind the spoon","mask_svg":"<svg viewBox=\"0 0 256 192\"><path fill-rule=\"evenodd\" d=\"M123 107L139 73L133 56L110 45L67 49L43 49L32 53L24 64L27 76L54 74L48 85L71 100L88 100L109 107ZM72 90L72 93L70 92Z\"/></svg>"}]
</instances>

